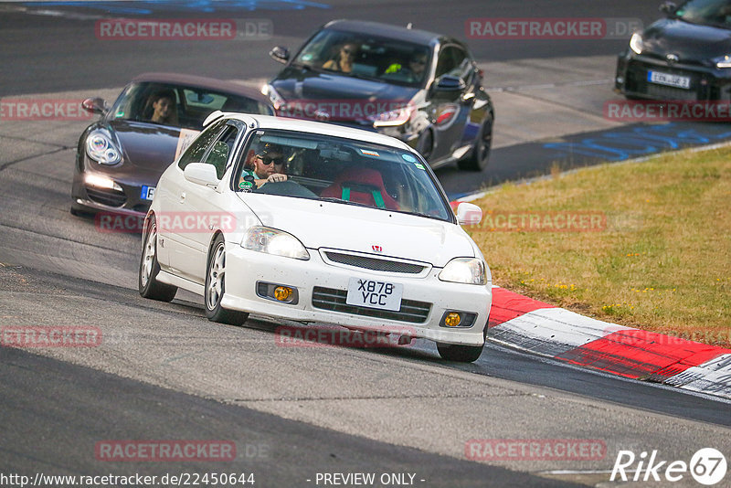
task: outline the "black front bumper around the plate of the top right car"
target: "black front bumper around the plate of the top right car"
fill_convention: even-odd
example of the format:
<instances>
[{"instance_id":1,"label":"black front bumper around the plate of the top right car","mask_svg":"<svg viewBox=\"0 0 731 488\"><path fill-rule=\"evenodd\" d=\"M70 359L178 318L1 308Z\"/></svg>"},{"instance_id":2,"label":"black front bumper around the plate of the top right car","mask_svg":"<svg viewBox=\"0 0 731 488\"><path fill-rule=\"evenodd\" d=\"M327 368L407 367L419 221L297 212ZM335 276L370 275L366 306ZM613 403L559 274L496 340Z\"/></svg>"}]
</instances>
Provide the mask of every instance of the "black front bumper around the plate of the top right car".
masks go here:
<instances>
[{"instance_id":1,"label":"black front bumper around the plate of the top right car","mask_svg":"<svg viewBox=\"0 0 731 488\"><path fill-rule=\"evenodd\" d=\"M657 70L690 78L690 88L675 88L648 81ZM622 53L617 59L615 90L634 98L665 101L731 101L731 69L678 62L672 66L651 55Z\"/></svg>"}]
</instances>

